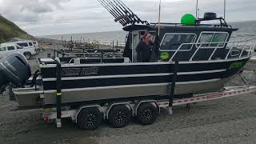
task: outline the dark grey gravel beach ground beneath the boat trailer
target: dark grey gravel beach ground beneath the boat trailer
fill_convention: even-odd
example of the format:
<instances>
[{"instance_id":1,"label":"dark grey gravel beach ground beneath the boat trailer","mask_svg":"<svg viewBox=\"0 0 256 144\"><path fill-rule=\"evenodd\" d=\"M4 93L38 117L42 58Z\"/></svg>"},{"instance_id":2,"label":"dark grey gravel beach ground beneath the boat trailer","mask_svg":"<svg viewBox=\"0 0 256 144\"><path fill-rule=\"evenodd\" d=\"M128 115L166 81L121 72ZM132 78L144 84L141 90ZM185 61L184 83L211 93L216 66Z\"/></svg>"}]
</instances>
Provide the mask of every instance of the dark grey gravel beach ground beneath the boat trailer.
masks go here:
<instances>
[{"instance_id":1,"label":"dark grey gravel beach ground beneath the boat trailer","mask_svg":"<svg viewBox=\"0 0 256 144\"><path fill-rule=\"evenodd\" d=\"M45 53L44 53L45 54ZM32 71L38 68L30 60ZM256 70L249 62L246 70ZM256 81L250 83L256 85ZM240 85L233 78L231 86ZM124 128L111 128L106 122L98 130L79 130L70 119L62 128L42 120L42 110L16 110L8 94L0 95L0 143L256 143L256 94L222 98L210 102L175 106L174 114L165 110L150 126L131 122Z\"/></svg>"}]
</instances>

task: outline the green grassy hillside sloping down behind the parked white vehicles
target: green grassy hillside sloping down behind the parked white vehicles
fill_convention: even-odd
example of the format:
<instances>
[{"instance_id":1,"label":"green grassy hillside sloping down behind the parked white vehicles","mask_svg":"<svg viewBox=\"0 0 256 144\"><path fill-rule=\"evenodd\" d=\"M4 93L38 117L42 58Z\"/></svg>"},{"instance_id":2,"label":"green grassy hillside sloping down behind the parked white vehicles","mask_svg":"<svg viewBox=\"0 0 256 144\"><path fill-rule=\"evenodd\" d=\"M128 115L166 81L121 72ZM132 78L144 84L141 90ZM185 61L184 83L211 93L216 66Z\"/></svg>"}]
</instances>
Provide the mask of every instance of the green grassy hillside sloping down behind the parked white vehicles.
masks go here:
<instances>
[{"instance_id":1,"label":"green grassy hillside sloping down behind the parked white vehicles","mask_svg":"<svg viewBox=\"0 0 256 144\"><path fill-rule=\"evenodd\" d=\"M24 30L20 29L14 22L0 15L0 43L10 41L11 38L31 37Z\"/></svg>"}]
</instances>

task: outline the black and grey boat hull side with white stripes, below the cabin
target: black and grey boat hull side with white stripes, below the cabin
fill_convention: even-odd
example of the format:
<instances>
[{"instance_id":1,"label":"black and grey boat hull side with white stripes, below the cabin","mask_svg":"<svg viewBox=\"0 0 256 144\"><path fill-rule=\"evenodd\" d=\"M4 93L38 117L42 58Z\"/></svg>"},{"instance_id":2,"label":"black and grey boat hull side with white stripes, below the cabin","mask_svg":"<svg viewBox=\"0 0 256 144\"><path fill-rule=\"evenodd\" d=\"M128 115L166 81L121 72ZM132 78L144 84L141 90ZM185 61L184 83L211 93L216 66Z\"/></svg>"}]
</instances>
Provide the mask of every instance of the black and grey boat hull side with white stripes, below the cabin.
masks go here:
<instances>
[{"instance_id":1,"label":"black and grey boat hull side with white stripes, below the cabin","mask_svg":"<svg viewBox=\"0 0 256 144\"><path fill-rule=\"evenodd\" d=\"M207 63L180 62L174 94L202 94L221 90L226 82L242 69L248 59ZM42 66L41 70L42 105L54 105L56 68ZM165 98L170 95L173 74L174 62L62 65L62 103L148 96ZM24 100L34 95L33 90L29 91L30 93L26 94L24 91L20 93L19 90L14 90L19 106L38 106L38 101L28 103Z\"/></svg>"}]
</instances>

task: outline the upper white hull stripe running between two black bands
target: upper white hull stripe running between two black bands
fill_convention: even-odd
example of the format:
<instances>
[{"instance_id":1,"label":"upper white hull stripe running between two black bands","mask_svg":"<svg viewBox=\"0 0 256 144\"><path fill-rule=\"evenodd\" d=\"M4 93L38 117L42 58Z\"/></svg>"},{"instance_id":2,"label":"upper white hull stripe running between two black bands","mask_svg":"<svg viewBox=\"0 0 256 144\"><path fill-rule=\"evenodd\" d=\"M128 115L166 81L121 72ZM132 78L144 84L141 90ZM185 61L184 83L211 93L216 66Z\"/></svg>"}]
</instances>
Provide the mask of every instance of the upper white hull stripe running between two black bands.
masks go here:
<instances>
[{"instance_id":1,"label":"upper white hull stripe running between two black bands","mask_svg":"<svg viewBox=\"0 0 256 144\"><path fill-rule=\"evenodd\" d=\"M188 74L210 74L223 72L224 70L205 70L205 71L192 71L192 72L180 72L178 75L188 75ZM173 73L162 73L162 74L122 74L122 75L102 75L102 76L87 76L87 77L67 77L62 78L62 81L70 80L81 80L81 79L101 79L101 78L138 78L138 77L160 77L160 76L169 76ZM42 78L43 82L56 81L56 78Z\"/></svg>"}]
</instances>

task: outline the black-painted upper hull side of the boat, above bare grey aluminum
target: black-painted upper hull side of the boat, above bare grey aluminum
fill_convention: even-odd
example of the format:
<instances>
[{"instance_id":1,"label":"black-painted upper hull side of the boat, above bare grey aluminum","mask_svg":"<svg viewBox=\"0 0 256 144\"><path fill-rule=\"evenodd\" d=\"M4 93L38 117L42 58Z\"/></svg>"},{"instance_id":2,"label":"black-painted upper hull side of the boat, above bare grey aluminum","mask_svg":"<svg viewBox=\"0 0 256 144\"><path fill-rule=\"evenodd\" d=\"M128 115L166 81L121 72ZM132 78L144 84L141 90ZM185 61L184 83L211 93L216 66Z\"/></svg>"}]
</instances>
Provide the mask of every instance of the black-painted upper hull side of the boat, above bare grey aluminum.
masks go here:
<instances>
[{"instance_id":1,"label":"black-painted upper hull side of the boat, above bare grey aluminum","mask_svg":"<svg viewBox=\"0 0 256 144\"><path fill-rule=\"evenodd\" d=\"M181 62L178 66L177 82L229 78L237 74L248 60L249 58L234 59L228 62ZM91 73L91 70L87 70L87 73L85 73L85 70L82 70L83 68L86 68L86 70L87 68L93 69L93 73ZM41 70L44 90L56 90L55 68L41 67ZM135 63L134 65L124 64L121 66L98 66L95 64L94 66L72 66L72 68L67 66L62 67L62 89L169 83L172 75L168 74L173 73L173 70L174 64L166 63L152 65L143 63L138 65ZM65 78L68 79L65 80Z\"/></svg>"}]
</instances>

